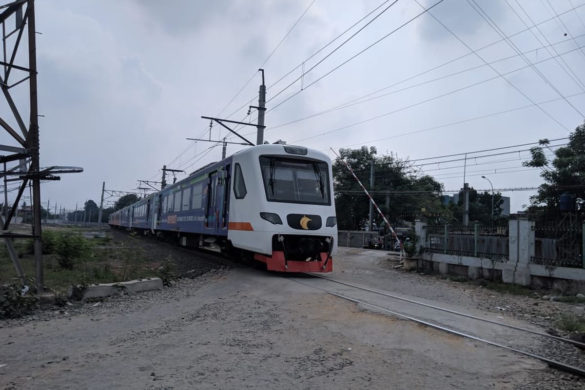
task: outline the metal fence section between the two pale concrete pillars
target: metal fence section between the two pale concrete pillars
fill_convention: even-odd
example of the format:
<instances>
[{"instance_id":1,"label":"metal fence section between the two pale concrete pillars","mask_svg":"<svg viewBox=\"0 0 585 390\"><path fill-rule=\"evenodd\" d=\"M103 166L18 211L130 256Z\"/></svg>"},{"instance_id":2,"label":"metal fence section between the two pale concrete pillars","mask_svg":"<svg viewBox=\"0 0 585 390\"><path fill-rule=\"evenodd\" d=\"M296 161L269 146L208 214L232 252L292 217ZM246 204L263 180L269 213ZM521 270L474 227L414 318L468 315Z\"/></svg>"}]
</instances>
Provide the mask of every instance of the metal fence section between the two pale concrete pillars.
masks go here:
<instances>
[{"instance_id":1,"label":"metal fence section between the two pale concrete pillars","mask_svg":"<svg viewBox=\"0 0 585 390\"><path fill-rule=\"evenodd\" d=\"M470 226L424 226L422 247L431 253L508 260L508 222L476 222Z\"/></svg>"}]
</instances>

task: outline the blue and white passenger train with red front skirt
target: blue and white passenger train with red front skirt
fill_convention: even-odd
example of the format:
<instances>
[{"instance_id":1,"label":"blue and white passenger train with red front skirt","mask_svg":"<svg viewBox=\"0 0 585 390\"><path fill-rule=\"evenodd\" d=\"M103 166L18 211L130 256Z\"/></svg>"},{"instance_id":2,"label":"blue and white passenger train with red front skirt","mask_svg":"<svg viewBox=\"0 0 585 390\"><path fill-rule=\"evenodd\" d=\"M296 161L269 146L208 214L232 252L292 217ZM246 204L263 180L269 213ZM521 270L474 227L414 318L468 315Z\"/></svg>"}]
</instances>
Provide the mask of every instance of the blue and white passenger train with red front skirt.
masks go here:
<instances>
[{"instance_id":1,"label":"blue and white passenger train with red front skirt","mask_svg":"<svg viewBox=\"0 0 585 390\"><path fill-rule=\"evenodd\" d=\"M109 225L219 247L270 271L331 272L338 238L331 168L318 150L256 145L112 213Z\"/></svg>"}]
</instances>

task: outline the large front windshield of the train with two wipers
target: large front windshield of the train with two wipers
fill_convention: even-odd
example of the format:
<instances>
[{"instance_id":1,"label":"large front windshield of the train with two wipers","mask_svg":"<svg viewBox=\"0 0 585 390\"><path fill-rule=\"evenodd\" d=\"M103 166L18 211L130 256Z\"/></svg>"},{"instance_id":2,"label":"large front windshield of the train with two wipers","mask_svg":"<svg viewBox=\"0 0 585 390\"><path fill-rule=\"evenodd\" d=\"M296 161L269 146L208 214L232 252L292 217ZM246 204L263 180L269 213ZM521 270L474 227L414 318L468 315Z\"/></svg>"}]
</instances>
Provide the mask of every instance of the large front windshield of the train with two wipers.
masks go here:
<instances>
[{"instance_id":1,"label":"large front windshield of the train with two wipers","mask_svg":"<svg viewBox=\"0 0 585 390\"><path fill-rule=\"evenodd\" d=\"M331 205L324 161L261 156L260 168L269 202Z\"/></svg>"}]
</instances>

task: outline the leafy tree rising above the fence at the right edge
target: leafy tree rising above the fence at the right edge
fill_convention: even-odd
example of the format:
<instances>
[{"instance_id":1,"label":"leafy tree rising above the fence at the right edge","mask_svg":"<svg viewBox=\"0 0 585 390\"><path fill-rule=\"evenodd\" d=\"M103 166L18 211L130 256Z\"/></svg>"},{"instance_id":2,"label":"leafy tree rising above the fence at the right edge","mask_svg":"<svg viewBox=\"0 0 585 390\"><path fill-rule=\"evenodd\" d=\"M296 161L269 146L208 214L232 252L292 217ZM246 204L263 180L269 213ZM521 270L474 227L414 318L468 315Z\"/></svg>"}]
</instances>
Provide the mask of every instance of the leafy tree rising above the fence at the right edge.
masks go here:
<instances>
[{"instance_id":1,"label":"leafy tree rising above the fence at the right edge","mask_svg":"<svg viewBox=\"0 0 585 390\"><path fill-rule=\"evenodd\" d=\"M522 163L525 167L541 168L544 183L538 193L530 197L531 210L556 212L559 210L560 195L573 194L577 208L585 208L585 122L577 126L569 136L569 143L553 151L554 158L549 161L546 150L550 141L541 140L539 146L532 147L532 159Z\"/></svg>"}]
</instances>

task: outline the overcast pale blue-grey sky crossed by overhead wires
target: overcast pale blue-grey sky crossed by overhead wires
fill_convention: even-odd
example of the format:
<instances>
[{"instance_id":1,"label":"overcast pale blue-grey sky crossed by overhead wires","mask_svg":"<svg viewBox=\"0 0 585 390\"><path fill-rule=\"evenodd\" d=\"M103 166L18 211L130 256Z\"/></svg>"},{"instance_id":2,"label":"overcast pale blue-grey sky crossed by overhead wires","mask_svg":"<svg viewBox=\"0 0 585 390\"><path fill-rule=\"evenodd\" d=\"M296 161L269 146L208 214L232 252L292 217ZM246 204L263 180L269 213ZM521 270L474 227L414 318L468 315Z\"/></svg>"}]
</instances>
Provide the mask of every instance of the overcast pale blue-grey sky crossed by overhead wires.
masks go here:
<instances>
[{"instance_id":1,"label":"overcast pale blue-grey sky crossed by overhead wires","mask_svg":"<svg viewBox=\"0 0 585 390\"><path fill-rule=\"evenodd\" d=\"M496 189L538 186L539 171L521 165L530 146L473 152L562 145L583 122L585 2L437 2L37 1L41 165L84 168L42 184L43 202L74 209L99 203L104 181L139 191L137 180L160 181L163 165L184 170L181 179L220 160L220 145L186 138L236 141L201 116L256 123L257 112L246 114L260 67L267 141L332 158L329 148L376 146L424 164L421 174L446 190L463 186L463 170L476 189L490 188L482 175ZM27 65L21 50L16 63ZM26 88L13 89L23 118ZM0 116L9 116L3 100ZM253 126L238 132L256 140ZM15 146L7 133L0 143ZM228 155L243 147L229 144ZM486 157L504 151L514 153ZM460 153L466 161L420 160ZM512 212L533 194L503 193Z\"/></svg>"}]
</instances>

